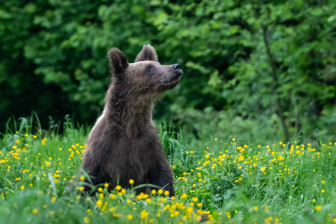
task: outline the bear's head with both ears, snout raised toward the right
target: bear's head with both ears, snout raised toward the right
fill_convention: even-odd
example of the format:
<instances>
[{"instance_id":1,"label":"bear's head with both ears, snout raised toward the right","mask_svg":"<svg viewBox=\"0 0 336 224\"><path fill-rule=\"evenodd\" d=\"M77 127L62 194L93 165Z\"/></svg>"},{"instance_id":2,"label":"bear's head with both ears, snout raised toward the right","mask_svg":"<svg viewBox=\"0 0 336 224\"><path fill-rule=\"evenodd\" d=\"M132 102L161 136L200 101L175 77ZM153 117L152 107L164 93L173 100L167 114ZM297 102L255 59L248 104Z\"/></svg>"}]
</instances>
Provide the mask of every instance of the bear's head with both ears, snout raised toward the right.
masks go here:
<instances>
[{"instance_id":1,"label":"bear's head with both ears, snout raised toward the right","mask_svg":"<svg viewBox=\"0 0 336 224\"><path fill-rule=\"evenodd\" d=\"M112 48L108 57L114 85L123 86L131 95L161 95L175 87L182 75L179 64L160 64L151 45L143 46L134 63L128 63L118 48Z\"/></svg>"}]
</instances>

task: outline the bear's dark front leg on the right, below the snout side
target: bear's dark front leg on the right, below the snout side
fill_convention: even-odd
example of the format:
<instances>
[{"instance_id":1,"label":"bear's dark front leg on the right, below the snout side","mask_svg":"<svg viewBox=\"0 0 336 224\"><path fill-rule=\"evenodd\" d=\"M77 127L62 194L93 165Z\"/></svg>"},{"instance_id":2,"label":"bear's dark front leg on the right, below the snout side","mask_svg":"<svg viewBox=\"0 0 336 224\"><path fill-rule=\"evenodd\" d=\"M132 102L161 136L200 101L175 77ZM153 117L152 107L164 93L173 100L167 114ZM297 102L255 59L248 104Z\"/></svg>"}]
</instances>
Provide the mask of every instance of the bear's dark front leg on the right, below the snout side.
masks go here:
<instances>
[{"instance_id":1,"label":"bear's dark front leg on the right, below the snout side","mask_svg":"<svg viewBox=\"0 0 336 224\"><path fill-rule=\"evenodd\" d=\"M150 184L157 185L169 191L169 196L175 195L173 186L173 175L167 160L158 161L149 170L148 180Z\"/></svg>"}]
</instances>

